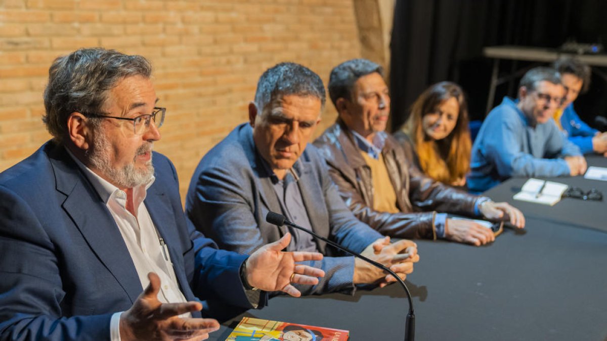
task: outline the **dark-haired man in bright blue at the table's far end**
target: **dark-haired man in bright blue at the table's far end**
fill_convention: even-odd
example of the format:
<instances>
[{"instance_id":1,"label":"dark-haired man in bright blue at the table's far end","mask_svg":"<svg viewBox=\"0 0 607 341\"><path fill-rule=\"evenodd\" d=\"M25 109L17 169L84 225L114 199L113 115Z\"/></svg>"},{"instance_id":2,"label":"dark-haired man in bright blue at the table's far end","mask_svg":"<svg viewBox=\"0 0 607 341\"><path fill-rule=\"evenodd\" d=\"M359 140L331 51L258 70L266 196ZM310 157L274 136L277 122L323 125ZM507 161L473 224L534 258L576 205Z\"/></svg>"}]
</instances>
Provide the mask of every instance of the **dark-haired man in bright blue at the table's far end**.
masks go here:
<instances>
[{"instance_id":1,"label":"dark-haired man in bright blue at the table's far end","mask_svg":"<svg viewBox=\"0 0 607 341\"><path fill-rule=\"evenodd\" d=\"M580 147L583 154L595 152L607 157L607 133L589 127L580 120L573 107L577 96L588 91L590 67L579 59L569 57L558 59L553 66L561 74L561 82L567 90L563 104L554 112L554 122L569 141Z\"/></svg>"}]
</instances>

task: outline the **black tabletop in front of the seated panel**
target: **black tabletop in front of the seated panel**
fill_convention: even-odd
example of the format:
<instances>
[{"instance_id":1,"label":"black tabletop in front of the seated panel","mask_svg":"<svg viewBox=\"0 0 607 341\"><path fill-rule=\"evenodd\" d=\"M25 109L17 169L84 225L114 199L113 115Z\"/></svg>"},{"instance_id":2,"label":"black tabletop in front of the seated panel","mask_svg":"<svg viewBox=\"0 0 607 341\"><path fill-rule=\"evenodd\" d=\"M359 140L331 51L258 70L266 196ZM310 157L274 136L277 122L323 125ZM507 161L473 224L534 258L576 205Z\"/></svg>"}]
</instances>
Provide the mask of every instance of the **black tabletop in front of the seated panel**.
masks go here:
<instances>
[{"instance_id":1,"label":"black tabletop in front of the seated panel","mask_svg":"<svg viewBox=\"0 0 607 341\"><path fill-rule=\"evenodd\" d=\"M507 193L518 180L492 192ZM558 180L604 186L581 177ZM565 212L577 207L572 199L527 207L513 194L494 199L523 209L524 231L506 228L482 247L416 241L421 260L407 277L416 340L607 340L607 233L596 228L607 221L600 218L607 217L604 201L595 210L580 200L583 222L572 224L576 219ZM225 340L242 316L348 329L353 341L402 340L406 312L397 285L353 296L275 297L264 309L222 323L211 340Z\"/></svg>"}]
</instances>

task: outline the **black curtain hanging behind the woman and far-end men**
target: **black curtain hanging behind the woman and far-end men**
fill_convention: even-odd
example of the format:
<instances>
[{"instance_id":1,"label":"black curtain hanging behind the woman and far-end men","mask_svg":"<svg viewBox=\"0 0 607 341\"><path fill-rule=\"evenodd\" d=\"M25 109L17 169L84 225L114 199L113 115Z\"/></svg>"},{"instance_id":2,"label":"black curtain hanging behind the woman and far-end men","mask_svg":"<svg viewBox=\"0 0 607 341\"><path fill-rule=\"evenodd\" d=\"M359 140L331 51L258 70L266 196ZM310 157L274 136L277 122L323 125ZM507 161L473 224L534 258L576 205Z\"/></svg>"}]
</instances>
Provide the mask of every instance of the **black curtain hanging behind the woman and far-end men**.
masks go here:
<instances>
[{"instance_id":1,"label":"black curtain hanging behind the woman and far-end men","mask_svg":"<svg viewBox=\"0 0 607 341\"><path fill-rule=\"evenodd\" d=\"M558 47L567 39L607 44L606 16L604 0L397 0L390 66L393 130L404 123L424 89L446 80L463 87L470 116L482 119L492 68L492 60L482 56L483 47ZM508 70L510 64L501 61L500 69ZM517 67L523 66L518 62ZM598 92L594 102L605 101L607 96L600 96L605 81L593 81L577 108L593 93ZM506 93L506 87L498 87L497 103ZM602 106L592 105L593 110ZM607 103L603 111L605 107Z\"/></svg>"}]
</instances>

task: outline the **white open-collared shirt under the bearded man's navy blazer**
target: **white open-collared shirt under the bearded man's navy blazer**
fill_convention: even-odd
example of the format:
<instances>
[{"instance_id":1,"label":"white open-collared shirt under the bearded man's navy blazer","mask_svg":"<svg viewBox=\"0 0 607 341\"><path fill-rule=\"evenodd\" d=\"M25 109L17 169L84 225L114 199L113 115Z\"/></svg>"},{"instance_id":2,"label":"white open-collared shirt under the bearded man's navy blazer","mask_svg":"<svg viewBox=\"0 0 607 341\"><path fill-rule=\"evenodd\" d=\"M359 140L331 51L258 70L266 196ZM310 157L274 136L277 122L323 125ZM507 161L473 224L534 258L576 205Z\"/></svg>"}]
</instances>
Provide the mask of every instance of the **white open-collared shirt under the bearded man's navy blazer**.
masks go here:
<instances>
[{"instance_id":1,"label":"white open-collared shirt under the bearded man's navy blazer","mask_svg":"<svg viewBox=\"0 0 607 341\"><path fill-rule=\"evenodd\" d=\"M175 271L171 263L171 256L168 248L161 246L160 235L154 227L154 222L149 215L143 200L146 198L147 189L154 183L155 177L146 184L133 188L133 207L137 212L137 218L126 209L126 192L107 182L99 175L95 174L88 167L84 166L69 149L67 152L76 161L78 166L84 170L84 174L92 183L95 191L100 195L101 200L106 203L120 234L124 239L126 248L131 254L132 261L137 270L137 275L141 282L141 291L149 285L148 273L155 272L160 277L160 291L158 300L162 303L180 303L187 302L181 293L175 277ZM165 258L166 255L166 258ZM112 341L120 340L120 316L122 312L116 312L110 320L110 337ZM191 317L186 313L181 317Z\"/></svg>"}]
</instances>

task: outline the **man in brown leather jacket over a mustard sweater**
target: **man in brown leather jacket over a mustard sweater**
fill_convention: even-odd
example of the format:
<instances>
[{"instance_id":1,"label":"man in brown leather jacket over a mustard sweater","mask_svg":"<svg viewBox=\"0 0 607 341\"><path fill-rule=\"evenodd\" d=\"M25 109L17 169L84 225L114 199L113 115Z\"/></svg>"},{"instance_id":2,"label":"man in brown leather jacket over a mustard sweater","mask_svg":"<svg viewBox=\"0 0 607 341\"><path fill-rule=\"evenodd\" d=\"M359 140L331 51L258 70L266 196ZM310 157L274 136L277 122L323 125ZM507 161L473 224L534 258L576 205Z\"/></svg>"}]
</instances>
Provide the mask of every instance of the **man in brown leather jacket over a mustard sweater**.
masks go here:
<instances>
[{"instance_id":1,"label":"man in brown leather jacket over a mustard sweater","mask_svg":"<svg viewBox=\"0 0 607 341\"><path fill-rule=\"evenodd\" d=\"M446 238L477 246L494 240L489 229L437 211L524 227L518 209L439 183L407 160L385 132L390 96L378 64L366 59L343 62L331 71L328 88L339 117L314 145L359 220L393 237Z\"/></svg>"}]
</instances>

